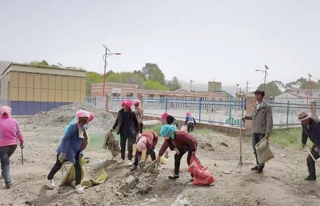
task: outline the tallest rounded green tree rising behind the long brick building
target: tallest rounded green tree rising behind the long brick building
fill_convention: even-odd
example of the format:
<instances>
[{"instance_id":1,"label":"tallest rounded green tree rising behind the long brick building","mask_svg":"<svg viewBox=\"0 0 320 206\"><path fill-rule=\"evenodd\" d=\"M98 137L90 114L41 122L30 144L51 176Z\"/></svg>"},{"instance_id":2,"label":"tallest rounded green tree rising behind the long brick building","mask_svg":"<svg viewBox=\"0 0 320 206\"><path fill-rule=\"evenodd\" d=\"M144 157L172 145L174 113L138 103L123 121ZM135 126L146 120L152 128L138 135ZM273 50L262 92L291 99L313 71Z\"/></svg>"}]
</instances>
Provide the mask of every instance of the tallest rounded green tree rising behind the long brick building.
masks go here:
<instances>
[{"instance_id":1,"label":"tallest rounded green tree rising behind the long brick building","mask_svg":"<svg viewBox=\"0 0 320 206\"><path fill-rule=\"evenodd\" d=\"M160 82L162 85L164 85L166 82L165 75L155 63L145 63L145 66L141 71L146 80Z\"/></svg>"}]
</instances>

